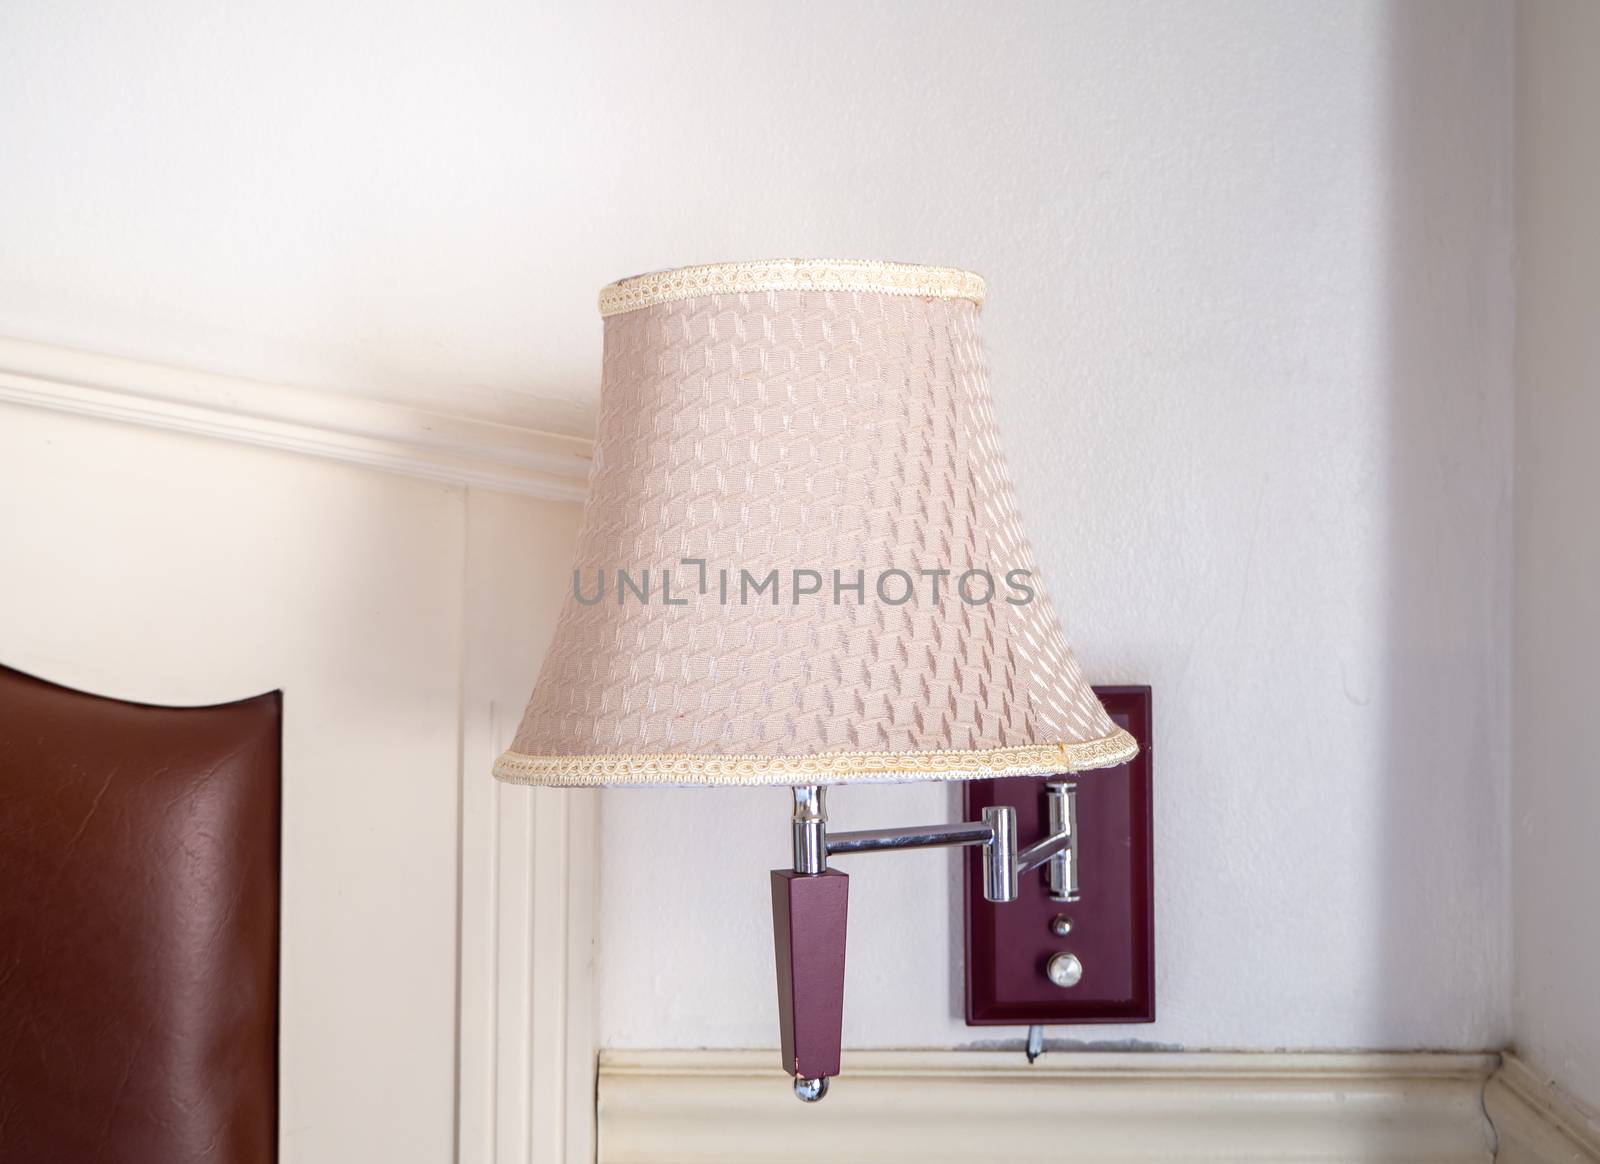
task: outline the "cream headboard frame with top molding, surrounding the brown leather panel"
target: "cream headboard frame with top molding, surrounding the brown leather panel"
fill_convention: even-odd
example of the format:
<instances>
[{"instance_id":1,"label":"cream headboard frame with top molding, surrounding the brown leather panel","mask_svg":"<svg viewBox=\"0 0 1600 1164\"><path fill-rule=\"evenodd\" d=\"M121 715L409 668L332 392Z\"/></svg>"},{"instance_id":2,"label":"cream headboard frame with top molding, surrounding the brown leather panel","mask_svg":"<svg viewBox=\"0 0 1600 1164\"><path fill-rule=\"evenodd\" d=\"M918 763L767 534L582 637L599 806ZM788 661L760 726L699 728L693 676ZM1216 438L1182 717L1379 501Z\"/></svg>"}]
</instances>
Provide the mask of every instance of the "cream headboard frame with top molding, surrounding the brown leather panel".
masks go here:
<instances>
[{"instance_id":1,"label":"cream headboard frame with top molding, surrounding the brown leather panel","mask_svg":"<svg viewBox=\"0 0 1600 1164\"><path fill-rule=\"evenodd\" d=\"M285 1164L592 1158L595 801L490 777L586 472L523 438L0 342L0 662L283 691Z\"/></svg>"}]
</instances>

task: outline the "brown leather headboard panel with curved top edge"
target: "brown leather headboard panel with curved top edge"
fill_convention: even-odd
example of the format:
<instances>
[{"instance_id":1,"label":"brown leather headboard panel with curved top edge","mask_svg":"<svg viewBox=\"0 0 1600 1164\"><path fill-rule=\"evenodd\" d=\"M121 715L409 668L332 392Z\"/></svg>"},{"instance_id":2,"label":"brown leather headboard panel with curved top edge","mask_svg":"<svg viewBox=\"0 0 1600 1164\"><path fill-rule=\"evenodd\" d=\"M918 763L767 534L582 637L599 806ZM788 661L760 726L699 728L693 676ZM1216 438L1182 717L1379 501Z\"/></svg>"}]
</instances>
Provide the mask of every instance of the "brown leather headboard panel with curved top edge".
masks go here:
<instances>
[{"instance_id":1,"label":"brown leather headboard panel with curved top edge","mask_svg":"<svg viewBox=\"0 0 1600 1164\"><path fill-rule=\"evenodd\" d=\"M0 1161L275 1159L280 707L0 667Z\"/></svg>"}]
</instances>

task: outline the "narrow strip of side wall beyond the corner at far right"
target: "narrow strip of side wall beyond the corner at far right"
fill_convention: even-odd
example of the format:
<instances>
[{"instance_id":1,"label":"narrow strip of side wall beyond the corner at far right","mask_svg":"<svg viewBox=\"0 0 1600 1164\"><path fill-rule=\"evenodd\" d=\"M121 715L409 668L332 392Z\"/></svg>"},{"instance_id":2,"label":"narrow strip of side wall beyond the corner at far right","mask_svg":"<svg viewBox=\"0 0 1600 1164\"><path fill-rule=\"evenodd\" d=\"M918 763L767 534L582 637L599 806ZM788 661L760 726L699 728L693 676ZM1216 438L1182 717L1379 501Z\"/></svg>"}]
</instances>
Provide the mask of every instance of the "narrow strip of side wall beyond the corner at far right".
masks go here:
<instances>
[{"instance_id":1,"label":"narrow strip of side wall beyond the corner at far right","mask_svg":"<svg viewBox=\"0 0 1600 1164\"><path fill-rule=\"evenodd\" d=\"M1600 8L1517 16L1514 1034L1600 1106Z\"/></svg>"}]
</instances>

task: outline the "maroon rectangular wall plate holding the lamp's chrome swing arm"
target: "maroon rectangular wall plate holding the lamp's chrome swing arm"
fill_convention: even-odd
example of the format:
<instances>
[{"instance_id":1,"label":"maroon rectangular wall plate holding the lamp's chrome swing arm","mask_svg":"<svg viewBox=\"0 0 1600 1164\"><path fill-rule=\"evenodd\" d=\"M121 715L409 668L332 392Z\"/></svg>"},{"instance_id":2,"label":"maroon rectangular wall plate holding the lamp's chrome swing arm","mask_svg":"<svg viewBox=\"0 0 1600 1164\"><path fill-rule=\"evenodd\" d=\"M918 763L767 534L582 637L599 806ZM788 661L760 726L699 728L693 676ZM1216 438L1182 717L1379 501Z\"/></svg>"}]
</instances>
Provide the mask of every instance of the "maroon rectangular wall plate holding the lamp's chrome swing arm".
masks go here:
<instances>
[{"instance_id":1,"label":"maroon rectangular wall plate holding the lamp's chrome swing arm","mask_svg":"<svg viewBox=\"0 0 1600 1164\"><path fill-rule=\"evenodd\" d=\"M1147 1023L1155 1020L1155 908L1150 844L1150 689L1096 688L1106 712L1139 742L1117 767L1069 777L1077 785L1080 899L1051 902L1042 870L1022 875L1018 900L984 900L982 867L966 851L966 1023ZM1045 836L1045 780L973 780L966 820L992 804L1016 807L1018 839ZM1064 915L1066 937L1051 932ZM1045 975L1056 953L1083 964L1075 987Z\"/></svg>"}]
</instances>

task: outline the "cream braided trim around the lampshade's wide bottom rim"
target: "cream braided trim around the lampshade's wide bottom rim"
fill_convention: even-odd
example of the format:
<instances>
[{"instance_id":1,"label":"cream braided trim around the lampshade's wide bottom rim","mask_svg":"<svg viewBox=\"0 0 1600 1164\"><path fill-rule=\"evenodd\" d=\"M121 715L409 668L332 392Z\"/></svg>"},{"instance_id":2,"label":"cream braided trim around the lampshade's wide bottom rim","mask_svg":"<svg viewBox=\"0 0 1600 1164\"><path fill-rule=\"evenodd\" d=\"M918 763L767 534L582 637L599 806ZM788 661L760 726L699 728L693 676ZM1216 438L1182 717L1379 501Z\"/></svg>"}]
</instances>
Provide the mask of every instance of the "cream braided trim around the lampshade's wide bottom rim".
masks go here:
<instances>
[{"instance_id":1,"label":"cream braided trim around the lampshade's wide bottom rim","mask_svg":"<svg viewBox=\"0 0 1600 1164\"><path fill-rule=\"evenodd\" d=\"M586 755L530 756L507 751L494 761L506 783L563 788L602 785L795 785L894 783L901 780L994 780L1110 767L1133 759L1139 745L1120 728L1098 740L1026 743L976 751L824 751L810 756L752 755Z\"/></svg>"}]
</instances>

